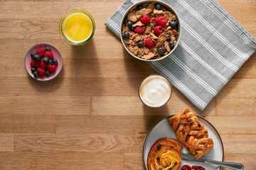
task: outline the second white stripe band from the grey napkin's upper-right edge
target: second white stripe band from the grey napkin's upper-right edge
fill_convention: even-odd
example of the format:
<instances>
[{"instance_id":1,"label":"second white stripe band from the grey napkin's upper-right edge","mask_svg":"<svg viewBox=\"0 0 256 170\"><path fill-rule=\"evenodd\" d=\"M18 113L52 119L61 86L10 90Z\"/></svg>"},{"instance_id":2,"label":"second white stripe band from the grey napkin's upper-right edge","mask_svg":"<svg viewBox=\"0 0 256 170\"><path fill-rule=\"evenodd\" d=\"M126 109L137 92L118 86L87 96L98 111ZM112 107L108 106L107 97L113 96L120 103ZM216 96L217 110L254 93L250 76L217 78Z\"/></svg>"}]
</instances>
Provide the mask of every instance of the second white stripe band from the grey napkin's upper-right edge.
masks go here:
<instances>
[{"instance_id":1,"label":"second white stripe band from the grey napkin's upper-right edge","mask_svg":"<svg viewBox=\"0 0 256 170\"><path fill-rule=\"evenodd\" d=\"M218 32L218 30L213 28L213 26L211 26L210 23L208 23L205 18L203 18L201 15L199 15L198 12L196 12L191 6L189 6L186 3L186 1L178 0L178 2L184 8L186 8L193 16L195 16L198 19L198 21L201 21L201 23L203 23L203 25L206 26L206 28L208 28L208 30L210 30L213 33L213 35L215 35L220 41L222 41L225 45L227 45L227 47L229 47L230 50L235 52L235 54L237 54L239 57L242 57L245 60L247 60L250 57L250 56L245 55L242 52L240 52L240 50L238 50L231 42L229 42L223 35L221 35Z\"/></svg>"}]
</instances>

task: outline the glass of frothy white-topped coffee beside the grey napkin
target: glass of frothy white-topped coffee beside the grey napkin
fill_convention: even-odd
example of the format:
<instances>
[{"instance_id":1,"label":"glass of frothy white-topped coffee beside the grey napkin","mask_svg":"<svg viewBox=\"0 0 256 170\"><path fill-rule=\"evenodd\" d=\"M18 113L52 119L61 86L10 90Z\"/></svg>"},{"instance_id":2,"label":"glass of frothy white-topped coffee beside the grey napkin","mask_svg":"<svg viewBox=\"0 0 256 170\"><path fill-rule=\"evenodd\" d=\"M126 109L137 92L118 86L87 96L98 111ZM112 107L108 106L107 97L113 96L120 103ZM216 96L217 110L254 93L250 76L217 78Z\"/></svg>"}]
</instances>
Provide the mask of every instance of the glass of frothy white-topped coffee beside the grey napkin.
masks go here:
<instances>
[{"instance_id":1,"label":"glass of frothy white-topped coffee beside the grey napkin","mask_svg":"<svg viewBox=\"0 0 256 170\"><path fill-rule=\"evenodd\" d=\"M171 84L159 75L146 77L139 86L139 98L152 108L164 106L171 98Z\"/></svg>"}]
</instances>

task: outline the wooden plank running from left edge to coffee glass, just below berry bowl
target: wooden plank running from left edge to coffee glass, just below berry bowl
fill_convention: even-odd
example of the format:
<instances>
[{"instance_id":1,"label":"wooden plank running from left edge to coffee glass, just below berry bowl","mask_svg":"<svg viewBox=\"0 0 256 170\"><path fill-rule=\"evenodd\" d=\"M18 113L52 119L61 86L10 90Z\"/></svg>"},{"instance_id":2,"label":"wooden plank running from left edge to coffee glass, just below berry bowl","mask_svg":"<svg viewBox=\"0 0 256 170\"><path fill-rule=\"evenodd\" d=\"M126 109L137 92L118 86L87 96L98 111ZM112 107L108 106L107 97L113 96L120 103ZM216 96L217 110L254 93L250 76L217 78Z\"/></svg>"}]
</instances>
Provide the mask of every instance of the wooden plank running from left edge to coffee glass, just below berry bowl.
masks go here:
<instances>
[{"instance_id":1,"label":"wooden plank running from left edge to coffee glass, just below berry bowl","mask_svg":"<svg viewBox=\"0 0 256 170\"><path fill-rule=\"evenodd\" d=\"M60 74L65 74L65 69ZM0 88L3 95L9 95L11 91L11 94L19 95L50 93L53 95L116 96L122 94L124 96L137 96L139 84L140 81L133 78L80 77L78 79L61 76L50 82L40 82L27 75L27 77L5 77L5 80L0 84Z\"/></svg>"}]
</instances>

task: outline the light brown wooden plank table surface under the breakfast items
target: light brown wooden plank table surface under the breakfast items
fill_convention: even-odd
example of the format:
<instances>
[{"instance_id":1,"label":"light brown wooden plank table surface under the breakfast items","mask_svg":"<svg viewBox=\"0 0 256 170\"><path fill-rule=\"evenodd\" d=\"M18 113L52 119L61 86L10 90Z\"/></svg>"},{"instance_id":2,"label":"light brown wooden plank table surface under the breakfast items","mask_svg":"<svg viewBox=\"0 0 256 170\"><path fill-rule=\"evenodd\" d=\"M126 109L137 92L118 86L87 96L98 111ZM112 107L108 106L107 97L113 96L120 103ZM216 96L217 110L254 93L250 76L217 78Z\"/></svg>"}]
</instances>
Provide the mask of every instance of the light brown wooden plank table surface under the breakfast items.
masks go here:
<instances>
[{"instance_id":1,"label":"light brown wooden plank table surface under the breakfast items","mask_svg":"<svg viewBox=\"0 0 256 170\"><path fill-rule=\"evenodd\" d=\"M104 25L122 2L0 1L0 169L143 169L146 132L186 107L218 130L226 162L256 169L256 54L203 113L177 89L166 106L146 107L138 87L156 72L129 56ZM255 0L218 2L256 37ZM69 45L58 33L71 8L95 18L87 45ZM26 52L39 42L63 55L63 70L52 81L36 81L24 68Z\"/></svg>"}]
</instances>

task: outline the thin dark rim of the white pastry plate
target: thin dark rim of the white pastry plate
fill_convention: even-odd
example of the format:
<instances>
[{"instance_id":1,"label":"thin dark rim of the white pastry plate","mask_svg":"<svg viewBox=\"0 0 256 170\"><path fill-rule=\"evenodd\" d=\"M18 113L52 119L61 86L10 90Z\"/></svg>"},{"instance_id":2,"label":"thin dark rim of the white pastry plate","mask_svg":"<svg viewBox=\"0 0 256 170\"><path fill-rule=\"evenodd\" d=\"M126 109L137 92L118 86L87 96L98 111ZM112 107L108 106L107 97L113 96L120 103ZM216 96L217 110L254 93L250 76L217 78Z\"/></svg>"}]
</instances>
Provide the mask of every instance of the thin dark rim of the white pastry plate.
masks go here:
<instances>
[{"instance_id":1,"label":"thin dark rim of the white pastry plate","mask_svg":"<svg viewBox=\"0 0 256 170\"><path fill-rule=\"evenodd\" d=\"M154 123L154 125L152 125L151 128L149 128L148 132L146 132L146 136L145 136L145 138L144 138L144 142L143 142L143 146L142 146L142 160L143 160L144 169L146 169L145 160L144 160L144 149L145 149L146 139L147 139L147 137L149 136L149 133L151 132L151 130L152 130L158 123L161 122L161 120L164 120L165 118L169 118L169 117L174 116L174 115L176 115L176 114L177 114L177 113L173 113L173 114L170 114L170 115L165 115L163 118L160 118L159 120L157 120L156 123ZM205 118L203 118L201 115L197 115L197 114L196 114L196 116L198 116L199 118L201 118L201 119L205 120L207 123L209 123L209 124L212 126L212 128L217 132L218 137L220 138L221 146L222 146L222 148L223 148L222 150L223 150L223 159L224 159L223 141L221 140L221 137L220 137L220 134L219 134L218 130L216 130L216 128L215 128L208 120L206 120ZM223 162L223 159L222 159L222 162ZM220 166L219 166L218 170L220 170Z\"/></svg>"}]
</instances>

